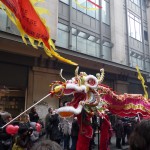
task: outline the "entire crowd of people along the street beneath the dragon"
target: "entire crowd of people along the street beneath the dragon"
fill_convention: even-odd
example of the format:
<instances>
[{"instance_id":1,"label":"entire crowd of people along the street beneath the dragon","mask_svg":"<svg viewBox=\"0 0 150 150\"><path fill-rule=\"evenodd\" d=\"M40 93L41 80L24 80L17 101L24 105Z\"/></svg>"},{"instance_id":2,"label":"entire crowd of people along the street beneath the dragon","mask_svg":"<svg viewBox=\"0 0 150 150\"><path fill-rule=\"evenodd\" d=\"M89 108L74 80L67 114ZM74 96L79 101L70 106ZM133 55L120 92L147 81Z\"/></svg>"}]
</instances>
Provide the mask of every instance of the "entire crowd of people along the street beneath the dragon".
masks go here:
<instances>
[{"instance_id":1,"label":"entire crowd of people along the street beneath the dragon","mask_svg":"<svg viewBox=\"0 0 150 150\"><path fill-rule=\"evenodd\" d=\"M0 113L0 127L3 127L12 119L8 112ZM109 118L107 118L108 120ZM150 120L139 122L137 118L117 118L111 128L111 124L104 118L99 124L97 116L94 115L91 121L93 127L93 138L89 150L95 146L95 132L106 135L100 139L100 150L105 150L111 144L112 130L116 135L116 148L122 149L128 144L129 150L150 150ZM41 131L37 131L36 123L41 125ZM29 114L23 114L11 123L18 125L17 134L11 135L6 128L0 130L0 150L76 150L79 126L77 118L60 118L52 107L48 109L44 122L40 121L39 115L33 107ZM107 126L107 128L106 128ZM106 132L108 134L106 134ZM106 148L104 145L106 145Z\"/></svg>"}]
</instances>

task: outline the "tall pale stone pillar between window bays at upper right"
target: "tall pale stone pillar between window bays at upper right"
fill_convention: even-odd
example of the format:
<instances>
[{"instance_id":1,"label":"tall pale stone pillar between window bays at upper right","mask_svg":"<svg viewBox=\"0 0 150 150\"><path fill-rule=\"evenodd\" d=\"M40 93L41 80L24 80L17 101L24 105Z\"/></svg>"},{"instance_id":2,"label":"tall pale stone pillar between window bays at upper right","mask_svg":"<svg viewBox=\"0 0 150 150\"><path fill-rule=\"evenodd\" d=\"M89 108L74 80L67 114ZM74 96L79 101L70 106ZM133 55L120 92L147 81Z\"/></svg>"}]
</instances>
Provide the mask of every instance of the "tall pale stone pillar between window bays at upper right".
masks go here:
<instances>
[{"instance_id":1,"label":"tall pale stone pillar between window bays at upper right","mask_svg":"<svg viewBox=\"0 0 150 150\"><path fill-rule=\"evenodd\" d=\"M112 61L126 64L125 55L125 14L123 0L110 0Z\"/></svg>"}]
</instances>

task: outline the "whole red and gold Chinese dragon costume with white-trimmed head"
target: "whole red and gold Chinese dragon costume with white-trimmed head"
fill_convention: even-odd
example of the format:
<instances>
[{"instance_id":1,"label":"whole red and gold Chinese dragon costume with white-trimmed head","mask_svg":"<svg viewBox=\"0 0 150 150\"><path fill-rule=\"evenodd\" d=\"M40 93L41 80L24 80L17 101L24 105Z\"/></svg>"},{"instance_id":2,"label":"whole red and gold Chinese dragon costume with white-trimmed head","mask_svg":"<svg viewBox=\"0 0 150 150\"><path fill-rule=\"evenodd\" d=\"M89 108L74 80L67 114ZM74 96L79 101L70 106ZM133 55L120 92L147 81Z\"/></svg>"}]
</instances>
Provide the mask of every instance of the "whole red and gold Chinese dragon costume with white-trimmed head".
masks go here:
<instances>
[{"instance_id":1,"label":"whole red and gold Chinese dragon costume with white-trimmed head","mask_svg":"<svg viewBox=\"0 0 150 150\"><path fill-rule=\"evenodd\" d=\"M75 77L64 82L55 81L51 86L51 94L58 97L63 95L73 95L71 102L67 106L57 109L61 117L76 116L80 132L78 134L77 150L88 150L90 139L93 135L90 119L96 114L102 117L109 125L109 120L105 111L120 117L134 117L137 114L150 116L149 100L141 94L122 94L117 95L111 88L103 85L104 69L94 75L87 75L85 72L78 74L78 67ZM105 125L104 125L105 126ZM104 130L104 129L103 129ZM105 136L105 135L104 135ZM109 136L109 135L108 135ZM103 138L101 136L101 138Z\"/></svg>"}]
</instances>

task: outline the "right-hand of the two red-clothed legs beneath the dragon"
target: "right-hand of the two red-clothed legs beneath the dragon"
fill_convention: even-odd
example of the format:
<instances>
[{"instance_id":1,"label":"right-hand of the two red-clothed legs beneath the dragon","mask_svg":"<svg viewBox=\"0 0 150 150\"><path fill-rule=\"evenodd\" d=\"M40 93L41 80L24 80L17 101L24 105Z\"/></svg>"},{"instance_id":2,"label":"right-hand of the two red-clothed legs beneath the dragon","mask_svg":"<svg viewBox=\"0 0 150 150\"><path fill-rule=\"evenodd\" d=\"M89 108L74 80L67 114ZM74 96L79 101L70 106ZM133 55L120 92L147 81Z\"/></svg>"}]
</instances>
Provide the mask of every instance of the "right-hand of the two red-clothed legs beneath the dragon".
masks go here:
<instances>
[{"instance_id":1,"label":"right-hand of the two red-clothed legs beneath the dragon","mask_svg":"<svg viewBox=\"0 0 150 150\"><path fill-rule=\"evenodd\" d=\"M109 121L109 117L107 114L104 115L103 122L101 124L100 130L101 130L101 137L100 137L100 150L109 150L108 144L109 144L109 138L111 136L111 124Z\"/></svg>"}]
</instances>

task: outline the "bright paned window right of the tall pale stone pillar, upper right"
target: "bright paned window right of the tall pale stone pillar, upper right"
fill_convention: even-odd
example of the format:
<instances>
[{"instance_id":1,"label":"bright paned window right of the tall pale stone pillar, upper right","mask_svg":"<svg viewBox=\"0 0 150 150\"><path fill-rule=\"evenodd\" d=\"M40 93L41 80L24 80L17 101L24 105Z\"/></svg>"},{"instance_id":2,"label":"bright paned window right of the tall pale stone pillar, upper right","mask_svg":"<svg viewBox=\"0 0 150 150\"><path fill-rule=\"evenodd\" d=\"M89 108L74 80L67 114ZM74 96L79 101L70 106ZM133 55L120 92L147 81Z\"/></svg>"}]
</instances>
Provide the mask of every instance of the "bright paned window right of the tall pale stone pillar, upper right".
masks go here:
<instances>
[{"instance_id":1,"label":"bright paned window right of the tall pale stone pillar, upper right","mask_svg":"<svg viewBox=\"0 0 150 150\"><path fill-rule=\"evenodd\" d=\"M128 27L129 27L129 36L139 41L142 41L141 19L135 17L130 12L128 12Z\"/></svg>"}]
</instances>

